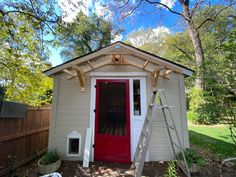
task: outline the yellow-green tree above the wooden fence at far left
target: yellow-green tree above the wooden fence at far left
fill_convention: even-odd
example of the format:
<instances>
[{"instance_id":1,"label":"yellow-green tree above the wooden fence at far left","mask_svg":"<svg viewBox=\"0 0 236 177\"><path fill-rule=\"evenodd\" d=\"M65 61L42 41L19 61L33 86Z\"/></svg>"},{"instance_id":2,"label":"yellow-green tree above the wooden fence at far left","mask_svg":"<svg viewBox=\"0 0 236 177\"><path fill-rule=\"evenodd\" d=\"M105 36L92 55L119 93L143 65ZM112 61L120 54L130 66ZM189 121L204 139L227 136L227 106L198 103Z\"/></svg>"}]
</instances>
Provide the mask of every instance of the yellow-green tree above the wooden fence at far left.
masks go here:
<instances>
[{"instance_id":1,"label":"yellow-green tree above the wooden fence at far left","mask_svg":"<svg viewBox=\"0 0 236 177\"><path fill-rule=\"evenodd\" d=\"M50 101L42 99L52 89L51 79L42 74L51 66L44 43L58 19L53 0L0 3L0 80L5 100L31 105Z\"/></svg>"}]
</instances>

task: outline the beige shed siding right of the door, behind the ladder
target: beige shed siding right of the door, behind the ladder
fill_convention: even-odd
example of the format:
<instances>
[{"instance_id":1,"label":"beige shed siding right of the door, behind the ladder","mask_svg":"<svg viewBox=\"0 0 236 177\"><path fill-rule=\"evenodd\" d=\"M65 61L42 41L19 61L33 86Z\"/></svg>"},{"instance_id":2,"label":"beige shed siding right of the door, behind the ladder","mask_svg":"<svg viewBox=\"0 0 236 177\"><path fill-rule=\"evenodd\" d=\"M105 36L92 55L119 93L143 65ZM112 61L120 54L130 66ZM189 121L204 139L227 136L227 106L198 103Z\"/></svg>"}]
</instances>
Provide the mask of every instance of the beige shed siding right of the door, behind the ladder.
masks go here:
<instances>
[{"instance_id":1,"label":"beige shed siding right of the door, behind the ladder","mask_svg":"<svg viewBox=\"0 0 236 177\"><path fill-rule=\"evenodd\" d=\"M159 78L157 83L158 89L164 89L166 92L166 96L170 105L175 106L171 108L172 115L174 117L176 127L180 136L181 141L185 140L185 147L188 146L188 132L187 132L187 124L186 124L186 108L183 101L185 98L184 94L184 85L180 87L183 82L183 75L174 73L171 75L170 80L166 80L163 78ZM147 79L147 100L149 101L152 95L151 79L148 77ZM183 90L180 90L183 89ZM168 114L167 114L168 115ZM169 119L169 116L167 116ZM149 153L150 153L150 161L167 161L173 159L173 153L169 141L169 137L167 134L166 128L164 128L164 119L161 110L155 110L153 112L153 133L149 145ZM184 128L183 128L184 127ZM175 135L173 134L173 137ZM174 141L177 142L176 138Z\"/></svg>"}]
</instances>

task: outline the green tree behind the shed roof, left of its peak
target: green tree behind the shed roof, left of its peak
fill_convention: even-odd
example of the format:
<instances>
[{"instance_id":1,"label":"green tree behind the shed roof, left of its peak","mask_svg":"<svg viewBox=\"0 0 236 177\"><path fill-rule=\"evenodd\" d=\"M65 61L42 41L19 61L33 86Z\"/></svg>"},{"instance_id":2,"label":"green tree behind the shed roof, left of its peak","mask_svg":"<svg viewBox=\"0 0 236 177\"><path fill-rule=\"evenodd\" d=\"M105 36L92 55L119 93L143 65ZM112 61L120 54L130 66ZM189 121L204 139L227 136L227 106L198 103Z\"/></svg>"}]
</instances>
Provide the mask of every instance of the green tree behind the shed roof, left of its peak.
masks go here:
<instances>
[{"instance_id":1,"label":"green tree behind the shed roof, left of its peak","mask_svg":"<svg viewBox=\"0 0 236 177\"><path fill-rule=\"evenodd\" d=\"M119 32L111 22L96 15L88 17L80 11L72 22L58 26L57 42L62 47L61 55L69 60L109 45Z\"/></svg>"}]
</instances>

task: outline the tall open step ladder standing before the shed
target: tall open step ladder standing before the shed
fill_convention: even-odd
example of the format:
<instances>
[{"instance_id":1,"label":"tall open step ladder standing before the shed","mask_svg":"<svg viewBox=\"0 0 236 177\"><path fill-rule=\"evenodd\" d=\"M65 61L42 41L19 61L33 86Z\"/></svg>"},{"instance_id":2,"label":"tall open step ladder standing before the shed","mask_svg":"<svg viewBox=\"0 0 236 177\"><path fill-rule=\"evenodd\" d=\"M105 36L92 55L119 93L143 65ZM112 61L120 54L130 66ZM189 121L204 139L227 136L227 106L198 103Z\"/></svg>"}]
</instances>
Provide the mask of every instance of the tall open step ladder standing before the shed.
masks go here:
<instances>
[{"instance_id":1,"label":"tall open step ladder standing before the shed","mask_svg":"<svg viewBox=\"0 0 236 177\"><path fill-rule=\"evenodd\" d=\"M135 177L141 177L145 157L147 154L147 150L149 147L149 142L150 142L151 134L152 134L152 113L153 113L153 108L155 105L157 106L158 109L161 109L162 111L165 127L167 129L167 133L169 136L173 155L176 159L176 163L182 169L182 171L186 174L186 176L191 177L189 168L187 165L187 161L185 158L185 154L184 154L184 148L181 144L181 141L180 141L180 138L179 138L176 126L175 126L175 122L172 116L172 112L170 110L171 106L168 104L167 97L163 89L159 89L153 92L153 95L152 95L152 98L151 98L151 101L147 110L146 118L143 124L143 128L141 131L141 135L139 138L139 142L136 148L136 152L134 155L133 163L131 165L131 170L134 170ZM170 117L170 123L167 120L167 113L169 114L169 117ZM173 134L175 135L177 142L173 141L174 139ZM176 152L177 149L179 149L184 163L180 163L178 161L178 154Z\"/></svg>"}]
</instances>

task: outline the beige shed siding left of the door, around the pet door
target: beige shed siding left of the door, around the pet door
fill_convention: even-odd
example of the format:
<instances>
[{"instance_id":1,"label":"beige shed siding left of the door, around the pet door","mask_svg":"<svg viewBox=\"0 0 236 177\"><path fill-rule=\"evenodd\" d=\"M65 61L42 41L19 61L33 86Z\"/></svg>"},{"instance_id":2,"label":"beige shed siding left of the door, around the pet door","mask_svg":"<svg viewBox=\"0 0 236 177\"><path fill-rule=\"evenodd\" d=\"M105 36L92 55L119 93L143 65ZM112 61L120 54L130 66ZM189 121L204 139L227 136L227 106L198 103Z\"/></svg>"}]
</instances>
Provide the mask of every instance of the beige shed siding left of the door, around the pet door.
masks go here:
<instances>
[{"instance_id":1,"label":"beige shed siding left of the door, around the pet door","mask_svg":"<svg viewBox=\"0 0 236 177\"><path fill-rule=\"evenodd\" d=\"M81 92L78 78L68 80L66 74L58 74L54 82L58 82L57 109L53 110L53 119L56 119L54 125L54 141L50 139L50 147L57 149L63 159L78 160L76 158L66 157L66 137L76 130L81 134L81 157L84 149L85 133L89 127L89 105L90 105L90 78L87 77L86 90ZM54 90L55 91L55 90ZM53 104L55 104L53 102ZM52 145L53 144L53 145Z\"/></svg>"}]
</instances>

